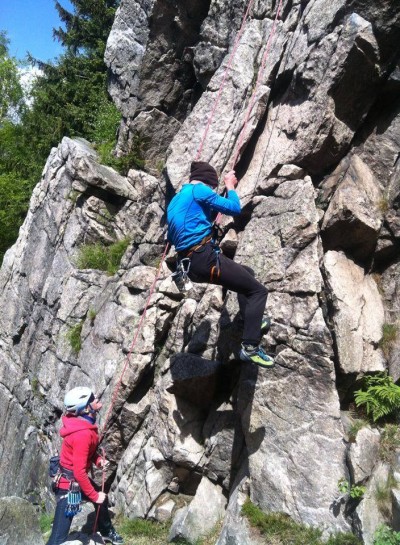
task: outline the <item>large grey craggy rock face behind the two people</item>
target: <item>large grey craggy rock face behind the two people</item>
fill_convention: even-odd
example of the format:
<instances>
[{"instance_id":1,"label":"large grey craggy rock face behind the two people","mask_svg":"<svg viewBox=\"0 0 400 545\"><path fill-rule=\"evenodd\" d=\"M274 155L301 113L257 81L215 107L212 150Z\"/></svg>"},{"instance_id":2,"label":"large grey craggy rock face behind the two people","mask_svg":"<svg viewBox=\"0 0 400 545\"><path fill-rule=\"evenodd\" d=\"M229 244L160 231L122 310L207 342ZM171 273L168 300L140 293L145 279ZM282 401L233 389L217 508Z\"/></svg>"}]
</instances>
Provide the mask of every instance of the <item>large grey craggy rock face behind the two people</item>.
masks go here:
<instances>
[{"instance_id":1,"label":"large grey craggy rock face behind the two people","mask_svg":"<svg viewBox=\"0 0 400 545\"><path fill-rule=\"evenodd\" d=\"M0 271L1 495L50 506L62 399L89 385L127 516L255 545L249 496L372 545L387 515L373 483L390 469L377 431L349 446L341 409L363 374L400 376L400 14L296 0L275 21L275 4L255 3L239 34L236 0L121 2L106 51L117 152L139 144L145 168L121 176L82 140L50 153ZM223 247L269 290L273 370L238 361L235 294L183 295L159 267L166 206L196 157L240 178ZM125 239L114 274L82 260ZM368 483L358 506L339 498L347 476Z\"/></svg>"}]
</instances>

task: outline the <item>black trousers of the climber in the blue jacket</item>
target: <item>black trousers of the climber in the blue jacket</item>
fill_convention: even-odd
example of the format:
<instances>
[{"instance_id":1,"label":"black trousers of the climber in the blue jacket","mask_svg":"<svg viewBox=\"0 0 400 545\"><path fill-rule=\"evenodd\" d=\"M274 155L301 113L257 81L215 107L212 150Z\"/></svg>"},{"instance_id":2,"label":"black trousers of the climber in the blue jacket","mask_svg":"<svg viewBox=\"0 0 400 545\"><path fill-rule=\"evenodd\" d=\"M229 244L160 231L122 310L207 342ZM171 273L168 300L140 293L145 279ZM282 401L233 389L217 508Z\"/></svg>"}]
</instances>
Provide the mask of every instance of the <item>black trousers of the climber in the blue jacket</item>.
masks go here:
<instances>
[{"instance_id":1,"label":"black trousers of the climber in the blue jacket","mask_svg":"<svg viewBox=\"0 0 400 545\"><path fill-rule=\"evenodd\" d=\"M211 243L202 246L191 255L189 278L193 282L211 283L211 269L216 265L216 253ZM220 275L213 276L212 283L235 291L238 294L238 303L242 315L243 342L258 344L261 339L261 321L267 302L268 291L254 277L250 267L235 263L229 257L219 254Z\"/></svg>"}]
</instances>

